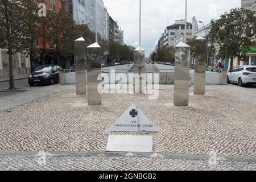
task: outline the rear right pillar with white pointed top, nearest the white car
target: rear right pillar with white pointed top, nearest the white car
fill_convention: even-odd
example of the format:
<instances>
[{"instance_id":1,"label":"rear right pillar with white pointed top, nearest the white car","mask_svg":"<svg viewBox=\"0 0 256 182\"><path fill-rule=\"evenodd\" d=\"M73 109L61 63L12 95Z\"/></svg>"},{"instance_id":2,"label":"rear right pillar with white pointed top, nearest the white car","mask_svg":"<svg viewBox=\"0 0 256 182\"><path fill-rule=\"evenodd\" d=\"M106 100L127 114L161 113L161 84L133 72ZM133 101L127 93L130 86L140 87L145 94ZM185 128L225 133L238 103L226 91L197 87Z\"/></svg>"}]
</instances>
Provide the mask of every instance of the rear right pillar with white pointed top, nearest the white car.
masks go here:
<instances>
[{"instance_id":1,"label":"rear right pillar with white pointed top, nearest the white car","mask_svg":"<svg viewBox=\"0 0 256 182\"><path fill-rule=\"evenodd\" d=\"M195 43L195 83L194 94L205 94L205 66L207 60L207 39L197 37Z\"/></svg>"}]
</instances>

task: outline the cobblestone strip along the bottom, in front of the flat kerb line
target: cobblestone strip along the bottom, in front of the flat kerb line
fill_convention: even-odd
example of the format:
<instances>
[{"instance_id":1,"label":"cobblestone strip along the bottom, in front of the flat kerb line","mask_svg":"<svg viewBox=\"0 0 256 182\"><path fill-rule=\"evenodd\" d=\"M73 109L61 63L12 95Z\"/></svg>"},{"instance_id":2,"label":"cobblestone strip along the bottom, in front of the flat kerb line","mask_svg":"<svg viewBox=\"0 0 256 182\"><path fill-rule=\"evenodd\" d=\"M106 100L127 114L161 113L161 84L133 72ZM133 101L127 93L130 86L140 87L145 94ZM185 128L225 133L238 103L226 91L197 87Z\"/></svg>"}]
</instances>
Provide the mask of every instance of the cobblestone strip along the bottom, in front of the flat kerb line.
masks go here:
<instances>
[{"instance_id":1,"label":"cobblestone strip along the bottom, in front of the flat kerb line","mask_svg":"<svg viewBox=\"0 0 256 182\"><path fill-rule=\"evenodd\" d=\"M86 171L253 171L256 158L224 156L23 152L0 154L0 170L86 170ZM151 155L151 156L150 156ZM209 160L216 158L216 161Z\"/></svg>"}]
</instances>

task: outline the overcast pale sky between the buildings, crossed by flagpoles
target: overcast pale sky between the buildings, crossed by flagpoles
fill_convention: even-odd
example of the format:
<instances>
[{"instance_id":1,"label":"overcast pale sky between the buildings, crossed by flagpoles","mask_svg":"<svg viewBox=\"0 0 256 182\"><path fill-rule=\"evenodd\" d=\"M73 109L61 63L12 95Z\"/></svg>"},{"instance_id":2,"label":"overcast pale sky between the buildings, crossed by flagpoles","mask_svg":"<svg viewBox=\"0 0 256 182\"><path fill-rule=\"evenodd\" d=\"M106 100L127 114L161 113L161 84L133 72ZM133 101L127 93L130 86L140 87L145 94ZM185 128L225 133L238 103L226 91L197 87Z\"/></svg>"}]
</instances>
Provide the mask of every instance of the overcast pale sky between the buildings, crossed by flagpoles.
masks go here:
<instances>
[{"instance_id":1,"label":"overcast pale sky between the buildings, crossed by flagpoles","mask_svg":"<svg viewBox=\"0 0 256 182\"><path fill-rule=\"evenodd\" d=\"M104 0L110 16L124 31L127 45L139 45L139 0ZM188 0L188 22L192 17L210 23L225 11L240 7L241 0ZM164 28L185 17L185 0L142 0L142 47L148 56ZM199 28L202 25L199 23Z\"/></svg>"}]
</instances>

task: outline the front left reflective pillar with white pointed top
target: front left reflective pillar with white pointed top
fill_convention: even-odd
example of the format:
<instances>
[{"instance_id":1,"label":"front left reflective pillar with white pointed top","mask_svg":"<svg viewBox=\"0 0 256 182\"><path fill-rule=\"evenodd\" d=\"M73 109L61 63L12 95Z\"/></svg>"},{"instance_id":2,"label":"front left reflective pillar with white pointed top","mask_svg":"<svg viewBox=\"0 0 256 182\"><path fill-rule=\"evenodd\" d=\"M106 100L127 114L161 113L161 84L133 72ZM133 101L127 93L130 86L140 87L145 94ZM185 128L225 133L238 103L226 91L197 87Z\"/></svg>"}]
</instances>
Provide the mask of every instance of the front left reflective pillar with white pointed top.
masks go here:
<instances>
[{"instance_id":1,"label":"front left reflective pillar with white pointed top","mask_svg":"<svg viewBox=\"0 0 256 182\"><path fill-rule=\"evenodd\" d=\"M101 80L101 47L98 43L94 43L86 49L87 57L87 89L88 89L88 105L102 105L101 91L98 86ZM101 77L99 77L101 78Z\"/></svg>"}]
</instances>

